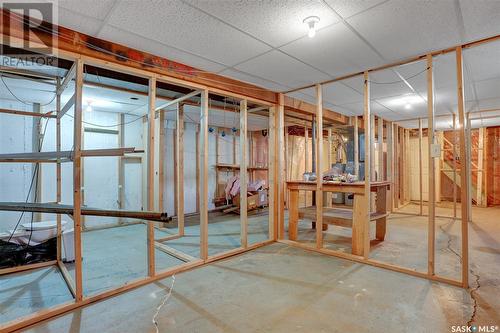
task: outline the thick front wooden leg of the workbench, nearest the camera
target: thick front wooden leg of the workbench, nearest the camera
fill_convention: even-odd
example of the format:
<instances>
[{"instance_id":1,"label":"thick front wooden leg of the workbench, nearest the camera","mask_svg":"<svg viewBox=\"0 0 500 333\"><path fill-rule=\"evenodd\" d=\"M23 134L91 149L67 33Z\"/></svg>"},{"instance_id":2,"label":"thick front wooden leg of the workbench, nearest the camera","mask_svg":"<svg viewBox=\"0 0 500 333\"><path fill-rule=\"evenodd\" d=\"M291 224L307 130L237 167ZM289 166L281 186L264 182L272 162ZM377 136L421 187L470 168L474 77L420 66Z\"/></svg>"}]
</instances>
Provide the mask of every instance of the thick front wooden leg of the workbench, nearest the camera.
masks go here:
<instances>
[{"instance_id":1,"label":"thick front wooden leg of the workbench, nearest the camera","mask_svg":"<svg viewBox=\"0 0 500 333\"><path fill-rule=\"evenodd\" d=\"M352 254L368 258L370 253L369 203L364 195L354 195L352 214Z\"/></svg>"}]
</instances>

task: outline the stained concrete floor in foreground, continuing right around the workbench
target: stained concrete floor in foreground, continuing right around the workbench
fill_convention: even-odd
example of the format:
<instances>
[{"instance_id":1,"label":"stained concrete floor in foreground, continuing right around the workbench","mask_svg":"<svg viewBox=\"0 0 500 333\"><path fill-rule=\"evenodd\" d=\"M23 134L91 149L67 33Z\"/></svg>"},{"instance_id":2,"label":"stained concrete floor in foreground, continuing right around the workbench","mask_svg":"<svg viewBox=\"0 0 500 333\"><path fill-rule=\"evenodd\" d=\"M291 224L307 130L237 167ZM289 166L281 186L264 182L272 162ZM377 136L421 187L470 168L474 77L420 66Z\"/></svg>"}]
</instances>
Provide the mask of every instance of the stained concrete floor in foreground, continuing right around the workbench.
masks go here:
<instances>
[{"instance_id":1,"label":"stained concrete floor in foreground, continuing right around the workbench","mask_svg":"<svg viewBox=\"0 0 500 333\"><path fill-rule=\"evenodd\" d=\"M402 211L418 211L418 207L409 205ZM438 214L449 213L449 208L438 209ZM159 331L450 332L451 325L465 325L472 317L478 325L500 325L498 216L500 207L473 209L471 290L272 244L175 276L171 296L156 317ZM425 221L425 217L393 214L386 241L375 245L371 256L423 270ZM309 224L300 227L306 238ZM339 231L348 233L330 228L325 246L348 251L350 240L342 240L347 234ZM440 219L436 230L438 272L455 278L459 276L460 259L454 253L459 253L459 231L459 222L451 219ZM342 244L331 244L334 239ZM164 279L29 331L155 332L152 318L172 282ZM0 286L3 290L4 285ZM17 290L15 297L30 298L34 287L26 287L30 291ZM37 288L45 292L43 285Z\"/></svg>"}]
</instances>

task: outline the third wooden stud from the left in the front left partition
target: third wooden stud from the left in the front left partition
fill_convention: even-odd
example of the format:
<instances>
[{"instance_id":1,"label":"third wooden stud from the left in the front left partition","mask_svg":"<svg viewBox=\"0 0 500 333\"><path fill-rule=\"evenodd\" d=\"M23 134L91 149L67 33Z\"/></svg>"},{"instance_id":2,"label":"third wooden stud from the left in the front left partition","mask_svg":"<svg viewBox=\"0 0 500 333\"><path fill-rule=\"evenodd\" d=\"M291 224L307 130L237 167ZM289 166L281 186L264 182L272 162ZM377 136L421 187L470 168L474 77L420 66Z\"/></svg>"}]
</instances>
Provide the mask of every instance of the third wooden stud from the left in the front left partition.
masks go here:
<instances>
[{"instance_id":1,"label":"third wooden stud from the left in the front left partition","mask_svg":"<svg viewBox=\"0 0 500 333\"><path fill-rule=\"evenodd\" d=\"M201 92L200 110L200 258L208 258L208 90Z\"/></svg>"}]
</instances>

